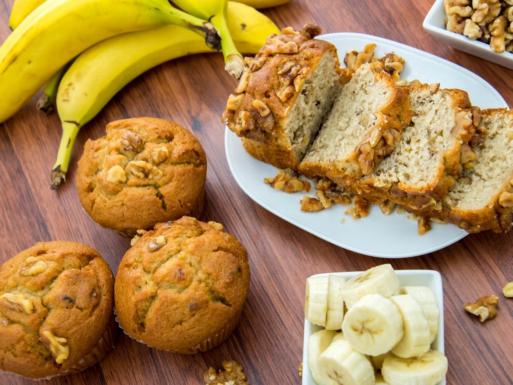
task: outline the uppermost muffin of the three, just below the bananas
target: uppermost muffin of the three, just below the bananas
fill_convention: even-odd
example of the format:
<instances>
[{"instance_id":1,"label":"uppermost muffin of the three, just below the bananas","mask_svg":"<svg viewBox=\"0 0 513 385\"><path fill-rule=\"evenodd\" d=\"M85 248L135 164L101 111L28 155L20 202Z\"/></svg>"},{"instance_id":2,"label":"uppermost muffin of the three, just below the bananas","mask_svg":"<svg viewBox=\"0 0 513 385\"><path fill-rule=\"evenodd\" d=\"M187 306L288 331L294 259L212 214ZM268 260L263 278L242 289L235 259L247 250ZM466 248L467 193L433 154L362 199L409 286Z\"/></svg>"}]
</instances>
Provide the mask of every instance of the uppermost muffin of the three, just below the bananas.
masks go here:
<instances>
[{"instance_id":1,"label":"uppermost muffin of the three, just below the bananas","mask_svg":"<svg viewBox=\"0 0 513 385\"><path fill-rule=\"evenodd\" d=\"M207 159L192 133L154 118L115 121L106 131L86 142L78 162L78 197L92 219L133 236L158 222L201 215Z\"/></svg>"}]
</instances>

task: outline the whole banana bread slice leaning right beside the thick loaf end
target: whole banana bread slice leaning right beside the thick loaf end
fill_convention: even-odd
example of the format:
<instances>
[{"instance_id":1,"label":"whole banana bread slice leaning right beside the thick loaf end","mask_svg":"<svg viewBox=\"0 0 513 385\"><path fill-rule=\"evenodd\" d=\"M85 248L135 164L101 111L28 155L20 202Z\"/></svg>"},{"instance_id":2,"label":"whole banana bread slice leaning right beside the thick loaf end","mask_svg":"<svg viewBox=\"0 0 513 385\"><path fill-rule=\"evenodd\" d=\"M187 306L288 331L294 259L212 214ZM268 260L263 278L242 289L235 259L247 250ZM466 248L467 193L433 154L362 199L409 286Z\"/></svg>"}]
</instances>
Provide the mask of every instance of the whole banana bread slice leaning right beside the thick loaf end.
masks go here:
<instances>
[{"instance_id":1,"label":"whole banana bread slice leaning right beside the thick loaf end","mask_svg":"<svg viewBox=\"0 0 513 385\"><path fill-rule=\"evenodd\" d=\"M410 120L407 89L396 85L383 63L364 64L340 91L300 171L339 184L369 174Z\"/></svg>"}]
</instances>

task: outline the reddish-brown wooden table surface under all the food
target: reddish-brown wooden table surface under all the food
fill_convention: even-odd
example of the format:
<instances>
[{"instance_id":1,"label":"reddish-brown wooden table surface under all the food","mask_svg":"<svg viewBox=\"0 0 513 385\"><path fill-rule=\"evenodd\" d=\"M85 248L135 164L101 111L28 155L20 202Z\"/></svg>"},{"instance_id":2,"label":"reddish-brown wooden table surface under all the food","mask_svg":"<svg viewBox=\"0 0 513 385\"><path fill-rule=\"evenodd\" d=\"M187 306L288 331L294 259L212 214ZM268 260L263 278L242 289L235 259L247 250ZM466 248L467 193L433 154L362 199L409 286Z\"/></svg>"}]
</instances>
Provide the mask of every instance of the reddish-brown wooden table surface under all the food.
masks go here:
<instances>
[{"instance_id":1,"label":"reddish-brown wooden table surface under all the food","mask_svg":"<svg viewBox=\"0 0 513 385\"><path fill-rule=\"evenodd\" d=\"M279 27L312 22L324 32L369 33L434 53L482 76L511 106L513 71L445 47L424 32L422 21L432 3L293 0L265 13ZM1 0L0 5L3 41L10 32L12 0ZM250 258L251 286L242 320L220 347L182 356L148 348L122 334L114 350L93 368L40 383L196 385L204 383L203 373L210 366L219 369L223 360L235 359L251 385L299 384L305 279L389 262L397 269L442 274L448 384L513 384L513 299L501 294L503 285L513 280L513 233L469 235L436 253L385 260L346 251L268 213L239 188L226 162L220 115L235 83L223 71L220 54L175 60L140 76L81 130L68 181L58 191L48 183L61 133L57 115L35 111L32 99L0 125L2 262L38 241L74 240L95 248L116 271L130 242L84 213L75 190L76 161L87 138L103 136L108 122L140 116L173 120L198 137L208 157L201 219L223 223L246 246ZM463 303L487 294L499 295L499 312L496 319L480 323L463 310ZM2 384L30 382L0 374Z\"/></svg>"}]
</instances>

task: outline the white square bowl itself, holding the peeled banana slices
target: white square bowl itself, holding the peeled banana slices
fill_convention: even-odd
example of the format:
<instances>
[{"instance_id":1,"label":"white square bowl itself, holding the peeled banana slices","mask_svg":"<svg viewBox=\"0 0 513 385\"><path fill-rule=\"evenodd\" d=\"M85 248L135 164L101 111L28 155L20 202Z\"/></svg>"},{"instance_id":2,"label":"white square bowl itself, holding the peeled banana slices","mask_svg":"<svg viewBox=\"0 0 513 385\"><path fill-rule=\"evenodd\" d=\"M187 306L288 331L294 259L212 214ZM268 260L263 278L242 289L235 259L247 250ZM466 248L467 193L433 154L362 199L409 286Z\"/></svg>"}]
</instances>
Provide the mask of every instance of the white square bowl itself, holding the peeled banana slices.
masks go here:
<instances>
[{"instance_id":1,"label":"white square bowl itself, holding the peeled banana slices","mask_svg":"<svg viewBox=\"0 0 513 385\"><path fill-rule=\"evenodd\" d=\"M362 272L325 273L317 274L314 277L333 274L348 280L361 273ZM396 270L396 274L399 277L401 286L427 286L433 291L433 293L435 293L438 309L440 310L440 318L438 320L439 332L437 334L437 338L431 344L431 349L438 350L445 354L444 295L442 288L442 277L440 276L440 273L433 270ZM305 319L305 335L303 339L303 385L317 385L317 383L313 380L312 375L310 374L310 367L308 365L308 338L310 338L313 333L321 329L323 329L321 326L314 325ZM438 385L446 385L445 377L438 383Z\"/></svg>"}]
</instances>

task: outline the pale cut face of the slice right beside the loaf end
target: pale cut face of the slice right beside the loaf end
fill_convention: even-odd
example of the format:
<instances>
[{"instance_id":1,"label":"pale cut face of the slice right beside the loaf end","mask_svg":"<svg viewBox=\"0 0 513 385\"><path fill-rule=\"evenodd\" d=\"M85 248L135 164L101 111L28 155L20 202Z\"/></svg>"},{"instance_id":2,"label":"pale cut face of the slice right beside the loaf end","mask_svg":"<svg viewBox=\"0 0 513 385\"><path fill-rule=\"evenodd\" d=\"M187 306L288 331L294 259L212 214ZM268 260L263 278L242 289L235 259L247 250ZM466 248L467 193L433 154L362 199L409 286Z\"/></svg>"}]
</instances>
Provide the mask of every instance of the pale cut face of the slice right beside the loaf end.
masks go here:
<instances>
[{"instance_id":1,"label":"pale cut face of the slice right beside the loaf end","mask_svg":"<svg viewBox=\"0 0 513 385\"><path fill-rule=\"evenodd\" d=\"M386 103L391 92L376 81L370 65L364 65L340 91L305 162L349 166L342 162L351 158L365 133L376 124L374 111Z\"/></svg>"}]
</instances>

